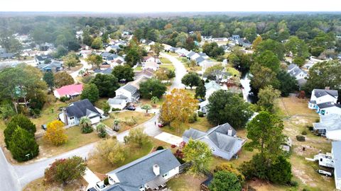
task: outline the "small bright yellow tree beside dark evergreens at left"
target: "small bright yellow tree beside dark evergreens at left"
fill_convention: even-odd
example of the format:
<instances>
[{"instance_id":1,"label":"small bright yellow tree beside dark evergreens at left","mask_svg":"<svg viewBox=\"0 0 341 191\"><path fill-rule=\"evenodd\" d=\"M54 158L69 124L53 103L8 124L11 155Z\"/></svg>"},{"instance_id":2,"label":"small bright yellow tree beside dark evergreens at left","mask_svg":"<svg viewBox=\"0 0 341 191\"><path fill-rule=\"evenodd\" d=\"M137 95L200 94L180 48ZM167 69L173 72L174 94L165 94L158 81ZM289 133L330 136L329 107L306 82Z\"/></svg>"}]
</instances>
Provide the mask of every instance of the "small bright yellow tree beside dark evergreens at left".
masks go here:
<instances>
[{"instance_id":1,"label":"small bright yellow tree beside dark evergreens at left","mask_svg":"<svg viewBox=\"0 0 341 191\"><path fill-rule=\"evenodd\" d=\"M63 127L63 122L60 122L58 120L50 122L47 126L44 139L49 141L51 144L54 144L55 146L65 144L67 142L67 135Z\"/></svg>"}]
</instances>

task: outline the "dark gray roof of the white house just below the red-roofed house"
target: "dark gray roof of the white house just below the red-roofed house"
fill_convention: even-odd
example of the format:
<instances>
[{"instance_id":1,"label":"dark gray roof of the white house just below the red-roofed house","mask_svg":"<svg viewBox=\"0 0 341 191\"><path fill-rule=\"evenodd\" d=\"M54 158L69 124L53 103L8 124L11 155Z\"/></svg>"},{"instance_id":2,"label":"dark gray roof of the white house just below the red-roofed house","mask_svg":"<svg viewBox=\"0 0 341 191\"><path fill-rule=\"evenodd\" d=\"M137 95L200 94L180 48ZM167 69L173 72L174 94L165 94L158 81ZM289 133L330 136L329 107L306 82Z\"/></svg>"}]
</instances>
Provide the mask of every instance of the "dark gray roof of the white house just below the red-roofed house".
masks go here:
<instances>
[{"instance_id":1,"label":"dark gray roof of the white house just below the red-roofed house","mask_svg":"<svg viewBox=\"0 0 341 191\"><path fill-rule=\"evenodd\" d=\"M74 103L71 103L70 106L66 108L67 115L69 117L75 116L78 119L80 117L87 116L88 110L97 113L97 115L100 115L99 112L94 108L94 105L90 103L90 100L79 100Z\"/></svg>"}]
</instances>

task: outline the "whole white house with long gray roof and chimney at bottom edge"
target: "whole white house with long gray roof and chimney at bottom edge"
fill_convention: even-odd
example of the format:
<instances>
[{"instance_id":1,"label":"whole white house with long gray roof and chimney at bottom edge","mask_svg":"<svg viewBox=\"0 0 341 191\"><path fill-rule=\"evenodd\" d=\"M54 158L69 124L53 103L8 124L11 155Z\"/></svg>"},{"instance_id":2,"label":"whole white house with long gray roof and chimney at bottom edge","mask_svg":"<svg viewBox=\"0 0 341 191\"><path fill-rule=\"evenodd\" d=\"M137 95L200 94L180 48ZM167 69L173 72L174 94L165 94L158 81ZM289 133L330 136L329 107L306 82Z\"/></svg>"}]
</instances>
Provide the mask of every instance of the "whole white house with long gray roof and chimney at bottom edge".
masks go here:
<instances>
[{"instance_id":1,"label":"whole white house with long gray roof and chimney at bottom edge","mask_svg":"<svg viewBox=\"0 0 341 191\"><path fill-rule=\"evenodd\" d=\"M160 190L179 174L180 163L170 149L154 151L107 173L107 191Z\"/></svg>"}]
</instances>

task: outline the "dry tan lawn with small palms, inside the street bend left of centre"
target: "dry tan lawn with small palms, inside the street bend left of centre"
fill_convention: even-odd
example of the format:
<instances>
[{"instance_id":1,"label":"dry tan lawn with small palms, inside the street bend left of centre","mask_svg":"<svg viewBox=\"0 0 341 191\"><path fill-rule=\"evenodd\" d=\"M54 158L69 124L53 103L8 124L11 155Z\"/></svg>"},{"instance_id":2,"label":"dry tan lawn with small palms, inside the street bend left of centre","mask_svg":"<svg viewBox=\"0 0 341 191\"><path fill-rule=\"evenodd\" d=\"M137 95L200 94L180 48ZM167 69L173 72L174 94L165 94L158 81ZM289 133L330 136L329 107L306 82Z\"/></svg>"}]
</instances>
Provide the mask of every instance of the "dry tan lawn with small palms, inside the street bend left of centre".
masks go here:
<instances>
[{"instance_id":1,"label":"dry tan lawn with small palms, inside the street bend left of centre","mask_svg":"<svg viewBox=\"0 0 341 191\"><path fill-rule=\"evenodd\" d=\"M128 129L131 129L132 127L141 125L142 123L151 119L153 116L153 113L148 113L148 115L146 115L145 112L135 112L128 110L124 112L112 112L110 113L110 118L102 121L102 123L108 127L112 127L114 125L114 120L119 119L119 132L124 132Z\"/></svg>"}]
</instances>

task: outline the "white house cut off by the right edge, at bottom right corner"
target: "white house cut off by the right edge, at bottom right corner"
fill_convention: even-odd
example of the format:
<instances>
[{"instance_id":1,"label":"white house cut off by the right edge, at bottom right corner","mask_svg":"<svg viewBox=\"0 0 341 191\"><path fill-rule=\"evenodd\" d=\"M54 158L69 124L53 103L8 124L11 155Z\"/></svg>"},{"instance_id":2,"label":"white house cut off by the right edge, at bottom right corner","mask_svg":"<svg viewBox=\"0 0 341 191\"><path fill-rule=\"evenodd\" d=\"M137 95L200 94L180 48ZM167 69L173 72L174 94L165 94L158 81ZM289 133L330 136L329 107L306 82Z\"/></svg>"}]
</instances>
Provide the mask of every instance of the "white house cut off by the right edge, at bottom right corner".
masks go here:
<instances>
[{"instance_id":1,"label":"white house cut off by the right edge, at bottom right corner","mask_svg":"<svg viewBox=\"0 0 341 191\"><path fill-rule=\"evenodd\" d=\"M332 158L334 159L335 187L341 190L341 141L332 142Z\"/></svg>"}]
</instances>

